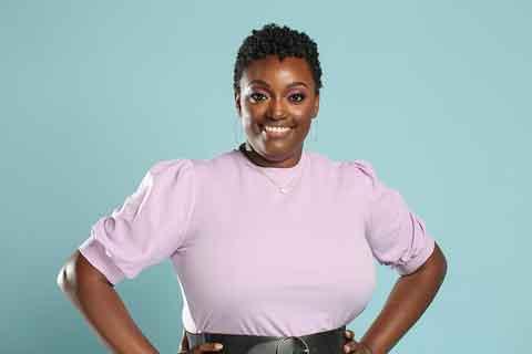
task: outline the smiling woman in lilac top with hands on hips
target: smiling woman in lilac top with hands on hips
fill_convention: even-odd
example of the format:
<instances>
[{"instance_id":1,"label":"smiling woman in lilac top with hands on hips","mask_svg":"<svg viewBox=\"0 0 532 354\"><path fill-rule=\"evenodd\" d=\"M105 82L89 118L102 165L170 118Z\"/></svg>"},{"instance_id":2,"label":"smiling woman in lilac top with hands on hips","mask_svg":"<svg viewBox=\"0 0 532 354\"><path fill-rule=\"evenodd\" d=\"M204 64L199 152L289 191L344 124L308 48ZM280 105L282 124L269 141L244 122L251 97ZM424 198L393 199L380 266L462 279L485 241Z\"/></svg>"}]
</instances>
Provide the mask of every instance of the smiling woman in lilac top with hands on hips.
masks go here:
<instances>
[{"instance_id":1,"label":"smiling woman in lilac top with hands on hips","mask_svg":"<svg viewBox=\"0 0 532 354\"><path fill-rule=\"evenodd\" d=\"M447 262L423 221L369 163L304 149L320 77L307 34L254 30L234 70L246 142L154 164L95 222L58 282L110 348L157 353L113 285L167 258L183 292L182 351L194 354L387 353L424 312ZM346 324L370 300L374 259L400 278L357 341Z\"/></svg>"}]
</instances>

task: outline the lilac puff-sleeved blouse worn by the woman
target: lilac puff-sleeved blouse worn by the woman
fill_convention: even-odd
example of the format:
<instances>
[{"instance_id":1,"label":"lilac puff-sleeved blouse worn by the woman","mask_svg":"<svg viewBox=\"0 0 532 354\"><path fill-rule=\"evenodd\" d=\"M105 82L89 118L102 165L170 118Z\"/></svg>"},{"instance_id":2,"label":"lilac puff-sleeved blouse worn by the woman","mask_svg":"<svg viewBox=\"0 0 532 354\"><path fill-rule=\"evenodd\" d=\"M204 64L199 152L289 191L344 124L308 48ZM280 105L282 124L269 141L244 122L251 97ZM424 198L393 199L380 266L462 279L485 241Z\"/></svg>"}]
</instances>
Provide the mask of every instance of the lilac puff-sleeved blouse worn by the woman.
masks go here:
<instances>
[{"instance_id":1,"label":"lilac puff-sleeved blouse worn by the woman","mask_svg":"<svg viewBox=\"0 0 532 354\"><path fill-rule=\"evenodd\" d=\"M155 163L79 249L113 284L170 259L188 332L287 336L348 324L374 259L408 274L434 240L367 162L259 167L234 149Z\"/></svg>"}]
</instances>

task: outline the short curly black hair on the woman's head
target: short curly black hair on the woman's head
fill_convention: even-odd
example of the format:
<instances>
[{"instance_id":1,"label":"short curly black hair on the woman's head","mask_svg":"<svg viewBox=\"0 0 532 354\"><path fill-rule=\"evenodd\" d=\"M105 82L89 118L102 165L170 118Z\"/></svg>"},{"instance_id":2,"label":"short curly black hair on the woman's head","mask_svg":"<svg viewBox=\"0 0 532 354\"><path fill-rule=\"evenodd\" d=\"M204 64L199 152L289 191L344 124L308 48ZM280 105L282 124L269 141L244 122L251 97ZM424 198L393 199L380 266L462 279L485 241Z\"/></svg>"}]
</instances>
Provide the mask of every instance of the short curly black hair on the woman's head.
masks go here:
<instances>
[{"instance_id":1,"label":"short curly black hair on the woman's head","mask_svg":"<svg viewBox=\"0 0 532 354\"><path fill-rule=\"evenodd\" d=\"M270 54L277 55L279 60L286 56L304 58L313 72L316 94L319 94L323 84L318 45L305 32L298 32L286 25L279 27L276 23L268 23L260 30L253 30L238 49L233 73L235 92L241 90L241 77L247 65L254 60Z\"/></svg>"}]
</instances>

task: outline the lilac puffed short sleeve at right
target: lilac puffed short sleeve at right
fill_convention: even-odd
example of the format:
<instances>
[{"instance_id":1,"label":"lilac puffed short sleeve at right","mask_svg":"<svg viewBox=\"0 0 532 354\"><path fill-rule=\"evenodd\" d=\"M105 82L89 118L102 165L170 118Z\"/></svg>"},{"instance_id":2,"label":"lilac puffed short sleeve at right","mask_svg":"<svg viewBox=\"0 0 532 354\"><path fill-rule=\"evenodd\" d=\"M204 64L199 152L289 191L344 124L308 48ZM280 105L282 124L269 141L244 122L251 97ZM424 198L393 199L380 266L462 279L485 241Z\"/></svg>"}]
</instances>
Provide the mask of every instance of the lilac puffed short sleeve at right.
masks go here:
<instances>
[{"instance_id":1,"label":"lilac puffed short sleeve at right","mask_svg":"<svg viewBox=\"0 0 532 354\"><path fill-rule=\"evenodd\" d=\"M352 166L366 180L366 238L375 258L401 275L415 272L436 244L424 221L409 209L399 191L379 180L368 162L356 160Z\"/></svg>"}]
</instances>

